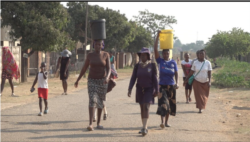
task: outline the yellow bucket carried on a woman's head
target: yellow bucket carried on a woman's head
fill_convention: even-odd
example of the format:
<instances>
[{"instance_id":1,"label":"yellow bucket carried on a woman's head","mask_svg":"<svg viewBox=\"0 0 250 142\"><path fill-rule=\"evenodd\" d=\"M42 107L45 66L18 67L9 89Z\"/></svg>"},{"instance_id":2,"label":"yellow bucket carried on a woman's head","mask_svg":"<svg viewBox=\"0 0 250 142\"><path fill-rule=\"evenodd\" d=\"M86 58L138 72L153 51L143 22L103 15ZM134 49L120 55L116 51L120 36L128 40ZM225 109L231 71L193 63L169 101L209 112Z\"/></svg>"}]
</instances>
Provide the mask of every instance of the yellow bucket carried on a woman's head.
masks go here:
<instances>
[{"instance_id":1,"label":"yellow bucket carried on a woman's head","mask_svg":"<svg viewBox=\"0 0 250 142\"><path fill-rule=\"evenodd\" d=\"M173 49L173 30L161 30L159 39L161 49Z\"/></svg>"}]
</instances>

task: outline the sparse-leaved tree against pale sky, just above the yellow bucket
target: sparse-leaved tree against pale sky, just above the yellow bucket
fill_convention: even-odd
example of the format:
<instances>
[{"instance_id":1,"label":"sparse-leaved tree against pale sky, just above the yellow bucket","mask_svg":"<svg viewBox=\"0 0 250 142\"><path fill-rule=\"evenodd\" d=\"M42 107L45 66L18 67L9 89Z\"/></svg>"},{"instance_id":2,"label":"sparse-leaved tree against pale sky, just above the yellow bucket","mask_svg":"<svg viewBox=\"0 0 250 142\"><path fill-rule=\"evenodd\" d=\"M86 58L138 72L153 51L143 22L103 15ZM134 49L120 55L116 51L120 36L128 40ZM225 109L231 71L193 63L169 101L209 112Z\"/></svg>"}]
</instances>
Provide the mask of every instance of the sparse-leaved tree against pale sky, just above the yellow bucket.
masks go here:
<instances>
[{"instance_id":1,"label":"sparse-leaved tree against pale sky, just above the yellow bucket","mask_svg":"<svg viewBox=\"0 0 250 142\"><path fill-rule=\"evenodd\" d=\"M153 39L155 39L157 31L163 30L167 26L172 28L172 24L177 24L177 20L174 16L165 16L149 12L147 9L145 11L139 11L138 16L133 16L138 25L145 27L152 34ZM176 39L177 37L174 37Z\"/></svg>"}]
</instances>

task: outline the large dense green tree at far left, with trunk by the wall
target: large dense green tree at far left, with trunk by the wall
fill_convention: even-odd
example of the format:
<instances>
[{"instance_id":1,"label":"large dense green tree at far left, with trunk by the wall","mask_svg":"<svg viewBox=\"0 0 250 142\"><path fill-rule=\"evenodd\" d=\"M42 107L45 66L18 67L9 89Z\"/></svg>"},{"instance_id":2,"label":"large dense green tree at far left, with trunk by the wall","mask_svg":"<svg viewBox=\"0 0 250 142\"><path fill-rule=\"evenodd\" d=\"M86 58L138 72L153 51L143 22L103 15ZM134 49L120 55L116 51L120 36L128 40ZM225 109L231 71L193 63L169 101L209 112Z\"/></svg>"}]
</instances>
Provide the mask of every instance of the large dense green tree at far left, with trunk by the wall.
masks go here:
<instances>
[{"instance_id":1,"label":"large dense green tree at far left, with trunk by the wall","mask_svg":"<svg viewBox=\"0 0 250 142\"><path fill-rule=\"evenodd\" d=\"M60 2L0 2L3 26L11 26L14 40L21 38L23 53L56 51L70 40L64 32L69 20ZM27 81L27 59L22 59L22 82Z\"/></svg>"}]
</instances>

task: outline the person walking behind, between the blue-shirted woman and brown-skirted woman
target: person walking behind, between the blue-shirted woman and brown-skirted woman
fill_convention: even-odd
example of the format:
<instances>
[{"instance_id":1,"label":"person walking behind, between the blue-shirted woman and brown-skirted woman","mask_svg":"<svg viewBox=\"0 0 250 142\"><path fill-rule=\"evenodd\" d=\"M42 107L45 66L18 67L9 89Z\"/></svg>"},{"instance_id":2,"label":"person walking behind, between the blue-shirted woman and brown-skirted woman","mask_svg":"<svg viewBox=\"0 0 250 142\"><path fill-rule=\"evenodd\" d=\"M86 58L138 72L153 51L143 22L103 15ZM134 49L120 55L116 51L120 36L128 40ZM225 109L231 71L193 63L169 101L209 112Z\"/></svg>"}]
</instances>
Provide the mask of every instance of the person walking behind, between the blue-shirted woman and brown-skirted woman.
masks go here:
<instances>
[{"instance_id":1,"label":"person walking behind, between the blue-shirted woman and brown-skirted woman","mask_svg":"<svg viewBox=\"0 0 250 142\"><path fill-rule=\"evenodd\" d=\"M189 59L188 53L184 54L184 58L185 58L185 60L181 61L181 67L183 70L183 82L185 81L186 76L188 76L188 74L191 70L191 66L192 66L192 60ZM192 92L192 85L186 84L185 85L186 103L189 103L192 101L191 92Z\"/></svg>"}]
</instances>

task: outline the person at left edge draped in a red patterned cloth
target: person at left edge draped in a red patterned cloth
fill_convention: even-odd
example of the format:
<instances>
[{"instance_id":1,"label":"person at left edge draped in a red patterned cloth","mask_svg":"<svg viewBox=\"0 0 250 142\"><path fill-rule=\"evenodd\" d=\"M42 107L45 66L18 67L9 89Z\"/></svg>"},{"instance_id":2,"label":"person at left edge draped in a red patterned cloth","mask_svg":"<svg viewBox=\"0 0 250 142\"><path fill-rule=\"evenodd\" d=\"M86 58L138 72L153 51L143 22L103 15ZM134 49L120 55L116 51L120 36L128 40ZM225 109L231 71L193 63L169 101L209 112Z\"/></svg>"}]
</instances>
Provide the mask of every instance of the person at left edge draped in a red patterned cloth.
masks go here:
<instances>
[{"instance_id":1,"label":"person at left edge draped in a red patterned cloth","mask_svg":"<svg viewBox=\"0 0 250 142\"><path fill-rule=\"evenodd\" d=\"M16 64L16 61L14 59L13 54L11 53L11 51L9 50L8 46L4 46L2 48L2 82L1 82L1 90L0 90L0 97L2 96L2 92L4 89L4 85L5 85L5 80L8 79L9 83L10 83L10 87L12 90L11 96L14 97L14 86L13 86L13 82L12 79L13 77L15 79L18 79L20 77L20 71L19 71L19 67Z\"/></svg>"}]
</instances>

